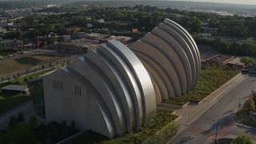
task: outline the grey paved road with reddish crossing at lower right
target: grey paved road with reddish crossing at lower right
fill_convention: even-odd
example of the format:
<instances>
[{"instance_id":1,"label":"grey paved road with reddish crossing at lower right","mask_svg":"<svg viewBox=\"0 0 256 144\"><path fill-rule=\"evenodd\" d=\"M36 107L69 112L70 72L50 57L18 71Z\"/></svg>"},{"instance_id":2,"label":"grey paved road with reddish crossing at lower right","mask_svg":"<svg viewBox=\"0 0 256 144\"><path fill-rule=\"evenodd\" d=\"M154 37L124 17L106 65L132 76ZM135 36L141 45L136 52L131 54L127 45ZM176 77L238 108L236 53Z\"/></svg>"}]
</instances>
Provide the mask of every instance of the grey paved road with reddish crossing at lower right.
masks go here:
<instances>
[{"instance_id":1,"label":"grey paved road with reddish crossing at lower right","mask_svg":"<svg viewBox=\"0 0 256 144\"><path fill-rule=\"evenodd\" d=\"M206 110L197 120L188 126L171 142L178 144L211 143L215 138L218 123L218 137L225 135L246 134L256 142L256 129L236 125L232 119L238 110L238 102L245 102L251 94L252 87L256 87L256 78L248 77L238 86L226 92L209 110ZM190 121L190 119L188 119ZM218 138L217 138L218 139Z\"/></svg>"}]
</instances>

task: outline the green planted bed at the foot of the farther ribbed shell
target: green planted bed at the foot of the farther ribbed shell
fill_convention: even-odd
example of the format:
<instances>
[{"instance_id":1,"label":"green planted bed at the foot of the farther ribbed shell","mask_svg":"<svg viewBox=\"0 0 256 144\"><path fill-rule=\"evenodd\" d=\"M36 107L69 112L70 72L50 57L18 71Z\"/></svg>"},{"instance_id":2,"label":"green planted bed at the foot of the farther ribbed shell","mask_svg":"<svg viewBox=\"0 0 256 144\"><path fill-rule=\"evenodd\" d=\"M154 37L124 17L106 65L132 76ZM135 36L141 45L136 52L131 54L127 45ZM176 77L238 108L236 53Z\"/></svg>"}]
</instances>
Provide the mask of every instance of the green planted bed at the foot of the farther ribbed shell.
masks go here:
<instances>
[{"instance_id":1,"label":"green planted bed at the foot of the farther ribbed shell","mask_svg":"<svg viewBox=\"0 0 256 144\"><path fill-rule=\"evenodd\" d=\"M230 68L208 67L199 75L198 83L194 90L188 94L163 102L180 106L187 102L200 102L237 74L238 70Z\"/></svg>"}]
</instances>

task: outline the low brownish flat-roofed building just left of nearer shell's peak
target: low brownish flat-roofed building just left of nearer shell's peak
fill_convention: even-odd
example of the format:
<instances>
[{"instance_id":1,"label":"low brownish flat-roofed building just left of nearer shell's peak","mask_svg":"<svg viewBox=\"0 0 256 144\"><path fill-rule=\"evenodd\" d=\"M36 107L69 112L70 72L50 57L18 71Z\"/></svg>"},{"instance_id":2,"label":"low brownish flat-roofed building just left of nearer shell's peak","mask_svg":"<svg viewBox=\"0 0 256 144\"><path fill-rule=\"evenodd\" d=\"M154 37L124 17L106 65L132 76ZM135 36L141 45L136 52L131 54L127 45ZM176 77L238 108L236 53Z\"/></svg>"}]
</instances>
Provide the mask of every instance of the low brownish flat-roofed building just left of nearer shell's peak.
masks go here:
<instances>
[{"instance_id":1,"label":"low brownish flat-roofed building just left of nearer shell's peak","mask_svg":"<svg viewBox=\"0 0 256 144\"><path fill-rule=\"evenodd\" d=\"M84 38L61 44L62 51L74 54L86 54L89 50L95 49L97 46L99 46L98 42L92 42Z\"/></svg>"}]
</instances>

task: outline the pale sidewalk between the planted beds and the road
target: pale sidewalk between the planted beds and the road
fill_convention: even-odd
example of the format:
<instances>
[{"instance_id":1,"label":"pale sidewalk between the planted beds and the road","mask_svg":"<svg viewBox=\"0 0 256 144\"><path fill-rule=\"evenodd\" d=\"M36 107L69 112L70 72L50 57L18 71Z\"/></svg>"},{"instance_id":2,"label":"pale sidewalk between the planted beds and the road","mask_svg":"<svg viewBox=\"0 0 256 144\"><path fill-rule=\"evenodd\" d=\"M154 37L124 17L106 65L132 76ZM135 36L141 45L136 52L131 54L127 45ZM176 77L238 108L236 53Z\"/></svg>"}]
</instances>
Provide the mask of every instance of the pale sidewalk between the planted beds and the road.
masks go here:
<instances>
[{"instance_id":1,"label":"pale sidewalk between the planted beds and the road","mask_svg":"<svg viewBox=\"0 0 256 144\"><path fill-rule=\"evenodd\" d=\"M234 78L230 79L229 82L226 82L224 85L218 88L218 90L215 90L212 94L204 98L201 102L188 103L186 106L183 106L182 109L174 110L173 114L178 115L176 123L180 126L178 133L174 136L174 138L181 134L187 126L190 126L191 123L200 118L200 116L204 114L206 110L209 110L210 107L214 106L214 104L218 102L225 94L234 89L235 86L238 86L238 84L243 82L246 78L247 77L245 75L238 74Z\"/></svg>"}]
</instances>

